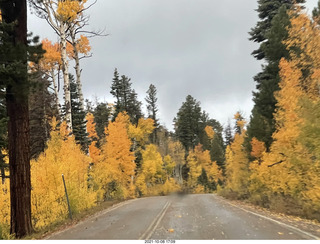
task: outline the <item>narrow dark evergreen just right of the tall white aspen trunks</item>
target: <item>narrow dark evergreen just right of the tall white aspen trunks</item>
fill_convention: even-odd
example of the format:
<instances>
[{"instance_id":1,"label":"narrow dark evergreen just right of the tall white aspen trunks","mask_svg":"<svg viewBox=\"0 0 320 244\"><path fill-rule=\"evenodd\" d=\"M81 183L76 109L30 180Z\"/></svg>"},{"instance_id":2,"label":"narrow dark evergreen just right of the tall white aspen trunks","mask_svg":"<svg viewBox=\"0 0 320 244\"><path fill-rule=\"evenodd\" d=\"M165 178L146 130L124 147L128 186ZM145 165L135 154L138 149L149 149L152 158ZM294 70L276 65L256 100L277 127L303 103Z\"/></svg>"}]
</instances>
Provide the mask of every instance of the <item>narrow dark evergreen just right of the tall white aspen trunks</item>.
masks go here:
<instances>
[{"instance_id":1,"label":"narrow dark evergreen just right of the tall white aspen trunks","mask_svg":"<svg viewBox=\"0 0 320 244\"><path fill-rule=\"evenodd\" d=\"M69 76L71 92L72 128L75 140L84 152L88 152L89 139L86 131L86 113L81 108L78 86L73 75Z\"/></svg>"}]
</instances>

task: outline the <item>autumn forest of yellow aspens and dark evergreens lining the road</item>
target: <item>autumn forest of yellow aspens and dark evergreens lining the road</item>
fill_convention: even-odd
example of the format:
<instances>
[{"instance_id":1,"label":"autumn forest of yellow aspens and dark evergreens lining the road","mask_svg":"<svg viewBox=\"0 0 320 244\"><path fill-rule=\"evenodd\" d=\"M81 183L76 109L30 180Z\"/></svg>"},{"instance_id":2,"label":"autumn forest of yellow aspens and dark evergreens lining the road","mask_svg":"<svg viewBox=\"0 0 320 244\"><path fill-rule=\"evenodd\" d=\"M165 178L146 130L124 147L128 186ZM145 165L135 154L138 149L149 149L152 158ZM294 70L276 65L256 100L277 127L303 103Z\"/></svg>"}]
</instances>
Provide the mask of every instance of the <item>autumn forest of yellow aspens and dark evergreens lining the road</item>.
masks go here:
<instances>
[{"instance_id":1,"label":"autumn forest of yellow aspens and dark evergreens lining the road","mask_svg":"<svg viewBox=\"0 0 320 244\"><path fill-rule=\"evenodd\" d=\"M90 1L29 2L59 41L27 33L26 1L0 0L0 239L68 218L62 174L72 213L113 199L217 193L320 221L320 2L309 16L304 0L259 0L249 35L264 65L250 118L234 111L223 126L190 94L173 131L159 123L157 88L139 101L121 70L106 90L113 101L84 99Z\"/></svg>"}]
</instances>

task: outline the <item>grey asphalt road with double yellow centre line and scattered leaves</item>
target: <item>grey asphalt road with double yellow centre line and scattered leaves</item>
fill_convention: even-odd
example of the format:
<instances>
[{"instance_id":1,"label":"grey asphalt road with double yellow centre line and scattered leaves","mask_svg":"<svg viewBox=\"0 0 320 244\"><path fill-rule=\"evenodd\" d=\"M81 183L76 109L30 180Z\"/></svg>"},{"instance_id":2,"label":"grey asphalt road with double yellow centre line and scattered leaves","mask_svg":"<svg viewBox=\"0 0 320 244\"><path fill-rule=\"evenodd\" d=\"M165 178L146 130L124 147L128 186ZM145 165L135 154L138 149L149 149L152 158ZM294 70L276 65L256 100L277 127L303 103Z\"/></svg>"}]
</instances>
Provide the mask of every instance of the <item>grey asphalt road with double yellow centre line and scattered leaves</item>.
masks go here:
<instances>
[{"instance_id":1,"label":"grey asphalt road with double yellow centre line and scattered leaves","mask_svg":"<svg viewBox=\"0 0 320 244\"><path fill-rule=\"evenodd\" d=\"M51 235L52 240L303 240L319 237L212 194L140 198Z\"/></svg>"}]
</instances>

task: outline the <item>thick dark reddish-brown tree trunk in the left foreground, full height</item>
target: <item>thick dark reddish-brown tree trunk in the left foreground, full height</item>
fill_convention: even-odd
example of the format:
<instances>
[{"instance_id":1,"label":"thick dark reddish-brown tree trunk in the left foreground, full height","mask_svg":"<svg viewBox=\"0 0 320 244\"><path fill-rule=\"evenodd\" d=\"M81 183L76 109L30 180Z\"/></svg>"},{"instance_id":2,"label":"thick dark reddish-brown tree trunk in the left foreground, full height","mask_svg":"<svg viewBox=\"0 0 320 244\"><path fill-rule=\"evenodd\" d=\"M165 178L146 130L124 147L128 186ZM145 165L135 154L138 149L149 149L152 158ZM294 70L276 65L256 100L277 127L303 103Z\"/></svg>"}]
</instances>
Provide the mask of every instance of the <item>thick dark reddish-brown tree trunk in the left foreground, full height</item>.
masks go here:
<instances>
[{"instance_id":1,"label":"thick dark reddish-brown tree trunk in the left foreground, full height","mask_svg":"<svg viewBox=\"0 0 320 244\"><path fill-rule=\"evenodd\" d=\"M29 145L29 109L27 75L27 3L26 0L2 0L2 18L15 23L9 32L12 51L15 53L15 73L6 87L6 105L9 117L9 168L10 168L10 232L21 238L32 232L31 225L31 179ZM9 58L9 57L8 57Z\"/></svg>"}]
</instances>

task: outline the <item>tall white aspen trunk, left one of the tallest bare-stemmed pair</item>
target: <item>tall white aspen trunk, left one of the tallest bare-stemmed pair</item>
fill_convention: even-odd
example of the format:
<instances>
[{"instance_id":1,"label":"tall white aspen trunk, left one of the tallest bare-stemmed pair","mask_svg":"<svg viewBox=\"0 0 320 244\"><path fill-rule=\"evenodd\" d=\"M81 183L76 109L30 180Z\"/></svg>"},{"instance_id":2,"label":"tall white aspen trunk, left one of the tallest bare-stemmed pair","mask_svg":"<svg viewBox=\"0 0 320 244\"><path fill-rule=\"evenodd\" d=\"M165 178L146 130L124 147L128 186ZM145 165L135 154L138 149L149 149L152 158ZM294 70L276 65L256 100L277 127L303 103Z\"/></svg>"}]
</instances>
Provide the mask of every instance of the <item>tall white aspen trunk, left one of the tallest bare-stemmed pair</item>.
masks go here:
<instances>
[{"instance_id":1,"label":"tall white aspen trunk, left one of the tallest bare-stemmed pair","mask_svg":"<svg viewBox=\"0 0 320 244\"><path fill-rule=\"evenodd\" d=\"M66 24L60 26L60 45L61 45L61 60L62 60L62 72L63 72L63 90L65 99L65 113L66 122L69 130L72 132L72 115L71 115L71 93L70 93L70 81L69 81L69 66L67 57L67 37L66 37Z\"/></svg>"}]
</instances>

